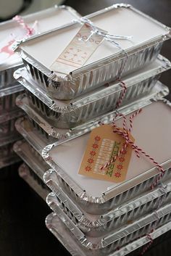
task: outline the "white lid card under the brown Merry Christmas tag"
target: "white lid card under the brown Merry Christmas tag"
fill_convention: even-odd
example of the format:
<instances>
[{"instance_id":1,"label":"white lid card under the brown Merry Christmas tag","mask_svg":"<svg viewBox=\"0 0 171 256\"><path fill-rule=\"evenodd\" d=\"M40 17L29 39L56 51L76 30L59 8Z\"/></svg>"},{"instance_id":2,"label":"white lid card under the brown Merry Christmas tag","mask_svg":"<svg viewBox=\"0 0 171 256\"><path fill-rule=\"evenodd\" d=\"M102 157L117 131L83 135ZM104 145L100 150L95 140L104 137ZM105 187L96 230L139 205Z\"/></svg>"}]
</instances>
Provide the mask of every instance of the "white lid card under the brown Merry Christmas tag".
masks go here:
<instances>
[{"instance_id":1,"label":"white lid card under the brown Merry Christmas tag","mask_svg":"<svg viewBox=\"0 0 171 256\"><path fill-rule=\"evenodd\" d=\"M122 120L118 120L117 125L122 127ZM144 107L141 114L135 117L133 121L132 135L135 138L135 144L150 154L151 157L154 157L159 163L171 159L170 131L171 109L163 102L154 102ZM73 181L78 183L78 186L86 190L87 194L93 197L100 197L109 187L117 187L118 183L99 181L78 175L80 162L86 150L88 136L89 133L55 146L49 151L49 155ZM154 164L149 159L143 156L138 159L135 152L133 152L126 178L127 180L134 178L153 167Z\"/></svg>"}]
</instances>

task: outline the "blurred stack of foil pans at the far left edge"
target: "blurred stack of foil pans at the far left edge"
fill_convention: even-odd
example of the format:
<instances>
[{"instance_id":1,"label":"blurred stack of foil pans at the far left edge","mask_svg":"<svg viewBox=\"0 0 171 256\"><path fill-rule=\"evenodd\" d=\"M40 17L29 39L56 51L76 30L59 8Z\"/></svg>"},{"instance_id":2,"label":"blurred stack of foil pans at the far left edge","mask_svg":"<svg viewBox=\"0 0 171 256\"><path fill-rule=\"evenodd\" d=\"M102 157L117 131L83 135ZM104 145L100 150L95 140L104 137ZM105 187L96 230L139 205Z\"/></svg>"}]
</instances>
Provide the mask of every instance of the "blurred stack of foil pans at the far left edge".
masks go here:
<instances>
[{"instance_id":1,"label":"blurred stack of foil pans at the far left edge","mask_svg":"<svg viewBox=\"0 0 171 256\"><path fill-rule=\"evenodd\" d=\"M80 15L71 7L52 7L23 17L25 24L33 28L33 35L45 33L48 30L61 27ZM25 38L27 31L15 20L0 24L0 168L11 165L19 160L12 152L12 143L20 139L14 122L17 117L24 115L15 104L16 97L23 93L24 88L14 79L13 73L23 66L22 59L12 54L10 47L13 41Z\"/></svg>"}]
</instances>

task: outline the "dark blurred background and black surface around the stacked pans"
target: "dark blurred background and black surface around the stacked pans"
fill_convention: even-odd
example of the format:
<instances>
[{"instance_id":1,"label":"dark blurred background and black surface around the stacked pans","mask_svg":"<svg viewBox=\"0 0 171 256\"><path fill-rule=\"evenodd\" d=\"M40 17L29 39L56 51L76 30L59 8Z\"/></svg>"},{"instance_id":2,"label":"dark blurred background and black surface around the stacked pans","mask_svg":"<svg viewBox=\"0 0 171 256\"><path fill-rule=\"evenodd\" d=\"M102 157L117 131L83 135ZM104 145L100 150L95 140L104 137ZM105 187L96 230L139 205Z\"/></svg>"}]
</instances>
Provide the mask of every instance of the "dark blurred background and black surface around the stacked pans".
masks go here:
<instances>
[{"instance_id":1,"label":"dark blurred background and black surface around the stacked pans","mask_svg":"<svg viewBox=\"0 0 171 256\"><path fill-rule=\"evenodd\" d=\"M54 4L66 4L81 15L87 15L109 5L125 2L171 27L171 0L0 0L0 22L14 15L25 15L46 9ZM125 21L126 22L126 21ZM166 41L162 54L171 60L171 44ZM171 89L170 72L161 81ZM171 96L169 96L171 99ZM1 256L69 256L44 225L51 212L17 175L19 165L0 172L0 255ZM145 256L168 256L171 252L171 233L159 238ZM135 252L134 255L138 255ZM132 255L131 255L132 256Z\"/></svg>"}]
</instances>

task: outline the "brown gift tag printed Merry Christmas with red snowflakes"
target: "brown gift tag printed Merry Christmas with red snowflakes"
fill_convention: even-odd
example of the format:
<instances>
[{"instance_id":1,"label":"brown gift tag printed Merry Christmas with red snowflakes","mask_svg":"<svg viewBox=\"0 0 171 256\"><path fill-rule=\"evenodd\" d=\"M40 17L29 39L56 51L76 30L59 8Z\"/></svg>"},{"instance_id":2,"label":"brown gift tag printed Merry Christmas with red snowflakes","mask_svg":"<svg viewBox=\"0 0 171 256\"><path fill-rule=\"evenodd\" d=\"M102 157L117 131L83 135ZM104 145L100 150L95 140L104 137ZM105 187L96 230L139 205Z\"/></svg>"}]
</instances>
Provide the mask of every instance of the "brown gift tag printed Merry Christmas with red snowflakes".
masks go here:
<instances>
[{"instance_id":1,"label":"brown gift tag printed Merry Christmas with red snowflakes","mask_svg":"<svg viewBox=\"0 0 171 256\"><path fill-rule=\"evenodd\" d=\"M122 129L121 129L122 130ZM133 136L129 138L134 142ZM117 160L108 167L101 168L115 157L125 144L125 139L117 133L114 133L112 125L101 125L91 131L90 138L83 155L79 174L104 181L119 183L125 181L132 147L128 145Z\"/></svg>"}]
</instances>

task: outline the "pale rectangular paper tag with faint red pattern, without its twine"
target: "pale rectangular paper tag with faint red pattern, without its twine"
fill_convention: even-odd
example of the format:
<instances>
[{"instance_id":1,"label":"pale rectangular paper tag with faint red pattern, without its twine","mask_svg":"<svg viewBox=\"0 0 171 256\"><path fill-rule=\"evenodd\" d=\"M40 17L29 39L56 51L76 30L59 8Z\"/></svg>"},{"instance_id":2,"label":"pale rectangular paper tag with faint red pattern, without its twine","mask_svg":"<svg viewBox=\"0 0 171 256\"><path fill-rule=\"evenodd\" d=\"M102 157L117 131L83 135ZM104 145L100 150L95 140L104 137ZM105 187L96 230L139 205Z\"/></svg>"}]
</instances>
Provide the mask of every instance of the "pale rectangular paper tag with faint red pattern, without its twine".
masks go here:
<instances>
[{"instance_id":1,"label":"pale rectangular paper tag with faint red pattern, without its twine","mask_svg":"<svg viewBox=\"0 0 171 256\"><path fill-rule=\"evenodd\" d=\"M103 40L101 36L93 34L88 41L85 41L91 35L91 30L89 25L83 25L51 65L51 70L70 73L72 70L82 67ZM83 40L80 40L81 38Z\"/></svg>"}]
</instances>

